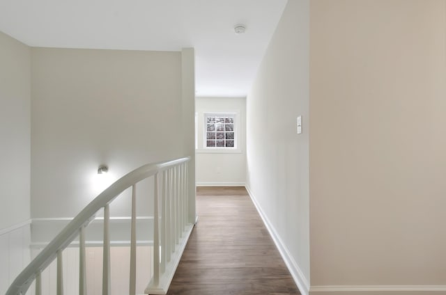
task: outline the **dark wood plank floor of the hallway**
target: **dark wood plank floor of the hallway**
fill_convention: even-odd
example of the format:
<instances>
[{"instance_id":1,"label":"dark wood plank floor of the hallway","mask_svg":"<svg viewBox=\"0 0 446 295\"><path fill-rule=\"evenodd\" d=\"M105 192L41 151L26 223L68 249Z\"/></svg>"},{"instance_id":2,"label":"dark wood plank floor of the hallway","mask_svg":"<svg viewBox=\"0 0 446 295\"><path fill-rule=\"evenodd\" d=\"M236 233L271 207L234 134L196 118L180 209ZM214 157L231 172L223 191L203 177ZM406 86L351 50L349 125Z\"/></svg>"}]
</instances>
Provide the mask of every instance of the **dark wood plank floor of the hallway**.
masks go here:
<instances>
[{"instance_id":1,"label":"dark wood plank floor of the hallway","mask_svg":"<svg viewBox=\"0 0 446 295\"><path fill-rule=\"evenodd\" d=\"M245 188L198 188L197 214L167 294L300 294Z\"/></svg>"}]
</instances>

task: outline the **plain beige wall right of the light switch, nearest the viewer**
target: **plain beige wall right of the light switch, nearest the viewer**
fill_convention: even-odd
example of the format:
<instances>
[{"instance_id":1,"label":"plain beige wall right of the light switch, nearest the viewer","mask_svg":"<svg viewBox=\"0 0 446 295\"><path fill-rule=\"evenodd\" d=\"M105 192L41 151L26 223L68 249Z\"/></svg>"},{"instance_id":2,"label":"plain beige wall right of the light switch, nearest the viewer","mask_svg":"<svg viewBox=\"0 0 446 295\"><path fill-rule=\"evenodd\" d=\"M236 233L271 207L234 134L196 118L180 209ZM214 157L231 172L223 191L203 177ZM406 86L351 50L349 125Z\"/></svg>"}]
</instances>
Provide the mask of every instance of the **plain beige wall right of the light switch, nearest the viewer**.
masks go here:
<instances>
[{"instance_id":1,"label":"plain beige wall right of the light switch, nearest the viewer","mask_svg":"<svg viewBox=\"0 0 446 295\"><path fill-rule=\"evenodd\" d=\"M446 285L445 2L311 1L315 291Z\"/></svg>"}]
</instances>

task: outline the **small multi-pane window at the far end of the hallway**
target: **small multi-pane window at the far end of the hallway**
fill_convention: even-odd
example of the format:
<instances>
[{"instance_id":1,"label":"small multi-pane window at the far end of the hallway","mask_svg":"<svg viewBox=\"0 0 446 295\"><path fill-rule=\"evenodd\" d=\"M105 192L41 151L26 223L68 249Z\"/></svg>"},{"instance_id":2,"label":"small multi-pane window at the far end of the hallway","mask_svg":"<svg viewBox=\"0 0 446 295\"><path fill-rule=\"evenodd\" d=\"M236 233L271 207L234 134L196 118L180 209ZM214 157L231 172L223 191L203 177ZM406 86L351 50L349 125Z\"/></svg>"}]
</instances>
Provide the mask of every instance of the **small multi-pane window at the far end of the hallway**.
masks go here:
<instances>
[{"instance_id":1,"label":"small multi-pane window at the far end of the hallway","mask_svg":"<svg viewBox=\"0 0 446 295\"><path fill-rule=\"evenodd\" d=\"M208 113L205 120L205 147L206 148L237 148L236 114Z\"/></svg>"}]
</instances>

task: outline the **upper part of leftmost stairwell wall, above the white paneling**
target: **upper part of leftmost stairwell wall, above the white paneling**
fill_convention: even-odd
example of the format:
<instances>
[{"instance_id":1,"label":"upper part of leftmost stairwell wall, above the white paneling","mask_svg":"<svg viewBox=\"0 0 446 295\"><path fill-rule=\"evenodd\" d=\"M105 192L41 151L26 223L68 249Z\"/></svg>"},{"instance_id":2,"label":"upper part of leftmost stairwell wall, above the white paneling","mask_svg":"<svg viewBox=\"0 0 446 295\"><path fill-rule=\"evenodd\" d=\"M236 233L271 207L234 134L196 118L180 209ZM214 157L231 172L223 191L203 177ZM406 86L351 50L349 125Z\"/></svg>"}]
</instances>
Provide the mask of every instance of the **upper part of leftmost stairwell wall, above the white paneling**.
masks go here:
<instances>
[{"instance_id":1,"label":"upper part of leftmost stairwell wall, above the white paneling","mask_svg":"<svg viewBox=\"0 0 446 295\"><path fill-rule=\"evenodd\" d=\"M0 230L29 219L31 53L0 32Z\"/></svg>"}]
</instances>

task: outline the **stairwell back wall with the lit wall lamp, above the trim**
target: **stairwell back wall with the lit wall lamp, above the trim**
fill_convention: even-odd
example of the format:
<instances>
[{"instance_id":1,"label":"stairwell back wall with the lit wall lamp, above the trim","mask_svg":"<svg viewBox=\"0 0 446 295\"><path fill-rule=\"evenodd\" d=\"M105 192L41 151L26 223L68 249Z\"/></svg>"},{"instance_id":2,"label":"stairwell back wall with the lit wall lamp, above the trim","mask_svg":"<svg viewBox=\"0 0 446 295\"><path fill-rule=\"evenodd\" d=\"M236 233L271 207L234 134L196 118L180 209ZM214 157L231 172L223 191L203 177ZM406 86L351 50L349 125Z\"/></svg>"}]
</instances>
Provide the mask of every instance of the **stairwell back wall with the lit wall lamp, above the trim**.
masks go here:
<instances>
[{"instance_id":1,"label":"stairwell back wall with the lit wall lamp, above the trim","mask_svg":"<svg viewBox=\"0 0 446 295\"><path fill-rule=\"evenodd\" d=\"M117 179L185 156L178 120L194 102L182 101L181 71L180 52L33 48L33 218L75 216L99 192L100 164ZM139 215L151 213L151 181L139 188ZM128 216L128 199L111 214Z\"/></svg>"}]
</instances>

